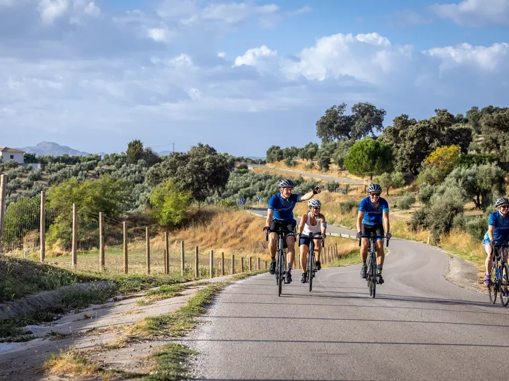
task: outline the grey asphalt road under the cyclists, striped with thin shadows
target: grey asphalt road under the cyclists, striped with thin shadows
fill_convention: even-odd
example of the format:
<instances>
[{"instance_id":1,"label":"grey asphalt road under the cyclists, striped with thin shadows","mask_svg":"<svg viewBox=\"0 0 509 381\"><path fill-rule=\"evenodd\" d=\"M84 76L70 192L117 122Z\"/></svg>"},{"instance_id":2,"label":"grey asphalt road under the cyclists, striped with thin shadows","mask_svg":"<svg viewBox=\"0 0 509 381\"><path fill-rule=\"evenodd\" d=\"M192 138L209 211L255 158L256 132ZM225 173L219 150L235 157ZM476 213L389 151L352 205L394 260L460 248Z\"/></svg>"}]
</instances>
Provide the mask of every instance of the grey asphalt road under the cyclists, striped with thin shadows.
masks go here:
<instances>
[{"instance_id":1,"label":"grey asphalt road under the cyclists, striped with thin shadows","mask_svg":"<svg viewBox=\"0 0 509 381\"><path fill-rule=\"evenodd\" d=\"M281 297L268 273L227 287L184 340L197 378L506 379L509 308L447 281L432 247L389 249L375 299L360 265L320 270L312 292L295 270Z\"/></svg>"}]
</instances>

